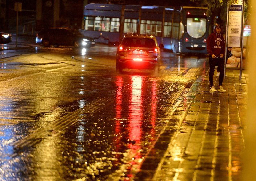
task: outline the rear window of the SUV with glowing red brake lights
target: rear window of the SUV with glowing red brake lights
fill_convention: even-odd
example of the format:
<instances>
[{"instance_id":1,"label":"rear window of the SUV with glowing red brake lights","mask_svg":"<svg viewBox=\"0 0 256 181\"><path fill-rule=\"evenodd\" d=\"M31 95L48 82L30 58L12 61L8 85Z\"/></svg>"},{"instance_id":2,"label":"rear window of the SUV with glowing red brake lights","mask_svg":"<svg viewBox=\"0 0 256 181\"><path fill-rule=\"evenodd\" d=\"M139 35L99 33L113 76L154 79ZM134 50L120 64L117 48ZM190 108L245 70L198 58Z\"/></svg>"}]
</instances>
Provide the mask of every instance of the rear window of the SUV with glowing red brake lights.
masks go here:
<instances>
[{"instance_id":1,"label":"rear window of the SUV with glowing red brake lights","mask_svg":"<svg viewBox=\"0 0 256 181\"><path fill-rule=\"evenodd\" d=\"M155 41L151 38L127 37L127 38L124 38L122 44L129 47L146 47L146 48L156 47Z\"/></svg>"}]
</instances>

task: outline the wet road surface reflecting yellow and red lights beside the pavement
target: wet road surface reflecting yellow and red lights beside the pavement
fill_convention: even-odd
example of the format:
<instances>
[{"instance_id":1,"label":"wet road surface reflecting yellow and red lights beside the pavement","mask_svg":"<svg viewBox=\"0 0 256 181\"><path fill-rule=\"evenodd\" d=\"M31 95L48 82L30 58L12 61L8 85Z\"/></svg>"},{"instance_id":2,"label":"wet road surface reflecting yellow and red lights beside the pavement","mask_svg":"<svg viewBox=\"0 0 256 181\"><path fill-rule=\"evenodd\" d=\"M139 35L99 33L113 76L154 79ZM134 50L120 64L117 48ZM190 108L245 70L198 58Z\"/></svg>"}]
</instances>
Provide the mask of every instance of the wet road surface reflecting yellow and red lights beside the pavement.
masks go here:
<instances>
[{"instance_id":1,"label":"wet road surface reflecting yellow and red lights beside the pavement","mask_svg":"<svg viewBox=\"0 0 256 181\"><path fill-rule=\"evenodd\" d=\"M97 45L2 54L0 180L150 180L140 169L168 147L158 140L170 140L162 133L207 58L163 53L153 76L117 74L115 53Z\"/></svg>"}]
</instances>

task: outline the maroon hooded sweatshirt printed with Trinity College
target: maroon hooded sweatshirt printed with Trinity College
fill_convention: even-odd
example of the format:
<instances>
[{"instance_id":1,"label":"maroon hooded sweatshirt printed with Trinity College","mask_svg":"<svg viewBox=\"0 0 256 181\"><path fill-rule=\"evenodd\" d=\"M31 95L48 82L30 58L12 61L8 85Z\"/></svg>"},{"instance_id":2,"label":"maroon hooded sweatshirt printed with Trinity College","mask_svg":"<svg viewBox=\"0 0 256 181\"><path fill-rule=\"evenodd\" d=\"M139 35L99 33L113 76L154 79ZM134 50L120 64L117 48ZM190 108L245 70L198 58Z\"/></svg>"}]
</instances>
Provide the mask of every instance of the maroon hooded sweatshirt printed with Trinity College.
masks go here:
<instances>
[{"instance_id":1,"label":"maroon hooded sweatshirt printed with Trinity College","mask_svg":"<svg viewBox=\"0 0 256 181\"><path fill-rule=\"evenodd\" d=\"M207 51L210 56L213 54L216 57L219 57L220 54L225 55L225 40L221 32L219 35L217 34L216 27L207 39Z\"/></svg>"}]
</instances>

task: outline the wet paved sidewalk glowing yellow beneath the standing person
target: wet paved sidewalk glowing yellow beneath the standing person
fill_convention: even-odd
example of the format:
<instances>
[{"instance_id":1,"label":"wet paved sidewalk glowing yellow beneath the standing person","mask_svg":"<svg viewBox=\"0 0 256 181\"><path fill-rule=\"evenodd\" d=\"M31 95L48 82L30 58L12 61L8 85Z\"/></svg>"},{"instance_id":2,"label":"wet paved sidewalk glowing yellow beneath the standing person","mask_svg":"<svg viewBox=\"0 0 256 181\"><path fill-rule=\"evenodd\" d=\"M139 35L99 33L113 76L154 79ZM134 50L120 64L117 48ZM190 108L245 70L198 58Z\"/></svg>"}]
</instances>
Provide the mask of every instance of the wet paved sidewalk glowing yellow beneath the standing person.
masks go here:
<instances>
[{"instance_id":1,"label":"wet paved sidewalk glowing yellow beneath the standing person","mask_svg":"<svg viewBox=\"0 0 256 181\"><path fill-rule=\"evenodd\" d=\"M196 79L169 121L178 126L157 170L141 175L153 181L242 180L248 74L243 70L239 80L239 72L226 69L226 93L209 93L208 76ZM217 89L219 77L214 81Z\"/></svg>"}]
</instances>

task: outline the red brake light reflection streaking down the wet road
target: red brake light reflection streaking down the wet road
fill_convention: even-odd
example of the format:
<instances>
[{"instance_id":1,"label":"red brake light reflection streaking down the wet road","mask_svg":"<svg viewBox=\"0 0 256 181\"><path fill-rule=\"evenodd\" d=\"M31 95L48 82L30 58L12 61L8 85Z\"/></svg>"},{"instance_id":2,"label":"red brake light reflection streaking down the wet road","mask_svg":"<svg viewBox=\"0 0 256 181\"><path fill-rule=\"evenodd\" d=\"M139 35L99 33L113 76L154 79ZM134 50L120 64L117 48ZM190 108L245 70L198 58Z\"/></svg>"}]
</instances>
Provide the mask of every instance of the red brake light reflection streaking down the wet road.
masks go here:
<instances>
[{"instance_id":1,"label":"red brake light reflection streaking down the wet road","mask_svg":"<svg viewBox=\"0 0 256 181\"><path fill-rule=\"evenodd\" d=\"M116 79L115 151L125 151L121 145L126 140L125 147L129 155L133 156L127 169L131 170L126 177L133 177L132 169L140 168L143 155L139 150L145 147L144 142L156 140L157 85L157 81L148 81L147 77L138 75L130 76L129 79L122 76ZM143 131L144 128L149 128L149 132ZM150 139L145 140L148 134L151 135ZM120 159L120 155L115 157Z\"/></svg>"}]
</instances>

